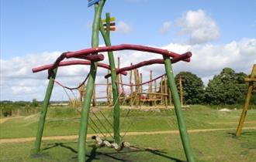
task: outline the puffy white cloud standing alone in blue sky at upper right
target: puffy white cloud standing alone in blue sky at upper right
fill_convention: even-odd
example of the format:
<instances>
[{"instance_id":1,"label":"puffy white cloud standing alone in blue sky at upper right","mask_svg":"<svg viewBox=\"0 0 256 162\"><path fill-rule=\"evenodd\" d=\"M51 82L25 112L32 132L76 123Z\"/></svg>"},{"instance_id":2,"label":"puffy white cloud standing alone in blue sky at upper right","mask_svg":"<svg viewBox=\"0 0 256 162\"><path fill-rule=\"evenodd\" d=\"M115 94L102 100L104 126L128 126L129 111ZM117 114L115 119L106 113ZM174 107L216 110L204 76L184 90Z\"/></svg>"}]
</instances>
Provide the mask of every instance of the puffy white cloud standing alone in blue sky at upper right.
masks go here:
<instances>
[{"instance_id":1,"label":"puffy white cloud standing alone in blue sky at upper right","mask_svg":"<svg viewBox=\"0 0 256 162\"><path fill-rule=\"evenodd\" d=\"M206 15L202 9L189 10L178 21L183 34L189 35L191 44L210 42L220 38L220 31L216 22Z\"/></svg>"}]
</instances>

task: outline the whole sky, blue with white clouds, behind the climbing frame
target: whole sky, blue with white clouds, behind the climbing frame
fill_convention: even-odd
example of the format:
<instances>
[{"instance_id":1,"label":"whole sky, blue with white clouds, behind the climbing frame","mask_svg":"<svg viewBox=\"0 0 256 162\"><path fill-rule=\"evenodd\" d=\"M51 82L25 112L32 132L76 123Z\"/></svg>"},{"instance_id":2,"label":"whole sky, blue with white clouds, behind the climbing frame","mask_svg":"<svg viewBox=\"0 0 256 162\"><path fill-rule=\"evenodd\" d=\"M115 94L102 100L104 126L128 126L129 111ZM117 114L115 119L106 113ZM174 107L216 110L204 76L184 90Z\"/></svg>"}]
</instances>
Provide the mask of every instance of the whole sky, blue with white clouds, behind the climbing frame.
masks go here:
<instances>
[{"instance_id":1,"label":"whole sky, blue with white clouds, behind the climbing frame","mask_svg":"<svg viewBox=\"0 0 256 162\"><path fill-rule=\"evenodd\" d=\"M32 73L31 69L53 63L62 52L90 48L94 8L88 8L87 2L0 1L0 100L43 100L47 72ZM106 12L116 17L112 45L129 43L178 53L191 51L191 62L175 63L173 69L175 73L195 73L205 86L225 67L249 74L256 63L255 0L107 0L102 18ZM100 46L104 46L102 39ZM117 56L121 67L161 58L135 51L115 52ZM103 62L108 63L107 56ZM57 79L67 86L78 86L88 69L60 68ZM164 66L140 69L144 81L150 70L159 76ZM96 83L106 83L106 73L99 69ZM104 89L97 88L99 93ZM55 86L52 100L67 99L64 90Z\"/></svg>"}]
</instances>

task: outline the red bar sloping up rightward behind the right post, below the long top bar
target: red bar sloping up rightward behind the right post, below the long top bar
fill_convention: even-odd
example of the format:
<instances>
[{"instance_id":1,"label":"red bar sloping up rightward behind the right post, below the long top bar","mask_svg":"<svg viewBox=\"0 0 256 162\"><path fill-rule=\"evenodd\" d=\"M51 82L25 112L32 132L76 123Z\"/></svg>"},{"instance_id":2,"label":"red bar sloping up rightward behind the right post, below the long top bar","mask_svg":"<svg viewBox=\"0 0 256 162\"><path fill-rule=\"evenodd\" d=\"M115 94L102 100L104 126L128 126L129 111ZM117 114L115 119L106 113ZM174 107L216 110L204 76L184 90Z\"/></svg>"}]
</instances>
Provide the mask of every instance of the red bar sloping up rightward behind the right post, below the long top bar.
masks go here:
<instances>
[{"instance_id":1,"label":"red bar sloping up rightward behind the right post, below the long top bar","mask_svg":"<svg viewBox=\"0 0 256 162\"><path fill-rule=\"evenodd\" d=\"M179 55L177 57L175 57L174 59L171 59L171 63L175 63L175 62L178 62L182 59L189 59L190 57L192 56L192 53L191 52L186 52L182 55ZM130 70L133 70L133 69L137 69L137 68L140 68L142 66L149 66L149 65L152 65L152 64L164 64L164 59L150 59L148 61L144 61L144 62L139 62L133 66L126 66L126 67L123 67L121 69L118 69L116 71L116 74L119 74L119 73L122 73L124 71L130 71ZM111 74L107 74L105 76L105 78L108 78L109 76L111 76Z\"/></svg>"}]
</instances>

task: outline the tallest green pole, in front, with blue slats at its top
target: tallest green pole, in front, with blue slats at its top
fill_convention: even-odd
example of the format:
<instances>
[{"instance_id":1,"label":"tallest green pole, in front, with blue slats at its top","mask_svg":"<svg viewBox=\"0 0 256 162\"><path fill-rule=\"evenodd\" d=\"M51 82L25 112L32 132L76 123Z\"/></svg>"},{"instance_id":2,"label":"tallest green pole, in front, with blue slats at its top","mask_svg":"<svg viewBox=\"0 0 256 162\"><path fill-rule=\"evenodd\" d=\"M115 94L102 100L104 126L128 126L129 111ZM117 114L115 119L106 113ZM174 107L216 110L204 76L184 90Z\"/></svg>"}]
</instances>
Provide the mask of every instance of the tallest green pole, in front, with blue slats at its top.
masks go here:
<instances>
[{"instance_id":1,"label":"tallest green pole, in front, with blue slats at its top","mask_svg":"<svg viewBox=\"0 0 256 162\"><path fill-rule=\"evenodd\" d=\"M95 4L95 17L92 25L92 47L99 46L99 21L102 15L102 8L105 4L105 0L102 0L98 4ZM95 78L97 74L97 62L91 63L91 68L88 76L88 83L85 89L84 106L81 110L80 130L78 137L78 161L85 162L85 147L86 136L88 130L88 117L89 110L92 102L92 93L95 86Z\"/></svg>"}]
</instances>

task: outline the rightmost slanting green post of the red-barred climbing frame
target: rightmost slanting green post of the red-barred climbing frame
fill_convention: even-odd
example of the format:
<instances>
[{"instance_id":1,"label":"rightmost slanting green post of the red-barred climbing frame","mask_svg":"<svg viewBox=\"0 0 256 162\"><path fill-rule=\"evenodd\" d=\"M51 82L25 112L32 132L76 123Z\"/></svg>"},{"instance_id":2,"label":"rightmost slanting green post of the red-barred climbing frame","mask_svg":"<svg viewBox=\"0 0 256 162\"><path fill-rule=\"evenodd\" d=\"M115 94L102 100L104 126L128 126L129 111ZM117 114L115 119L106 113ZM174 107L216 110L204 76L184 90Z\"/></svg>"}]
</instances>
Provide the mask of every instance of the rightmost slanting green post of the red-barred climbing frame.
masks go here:
<instances>
[{"instance_id":1,"label":"rightmost slanting green post of the red-barred climbing frame","mask_svg":"<svg viewBox=\"0 0 256 162\"><path fill-rule=\"evenodd\" d=\"M182 106L178 97L178 90L175 84L175 77L171 67L171 59L168 56L164 56L164 67L168 78L168 86L171 89L171 95L173 97L175 112L178 120L178 129L182 138L183 149L185 150L185 156L189 162L194 162L194 155L189 142L189 134L185 127L185 120L182 115Z\"/></svg>"}]
</instances>

